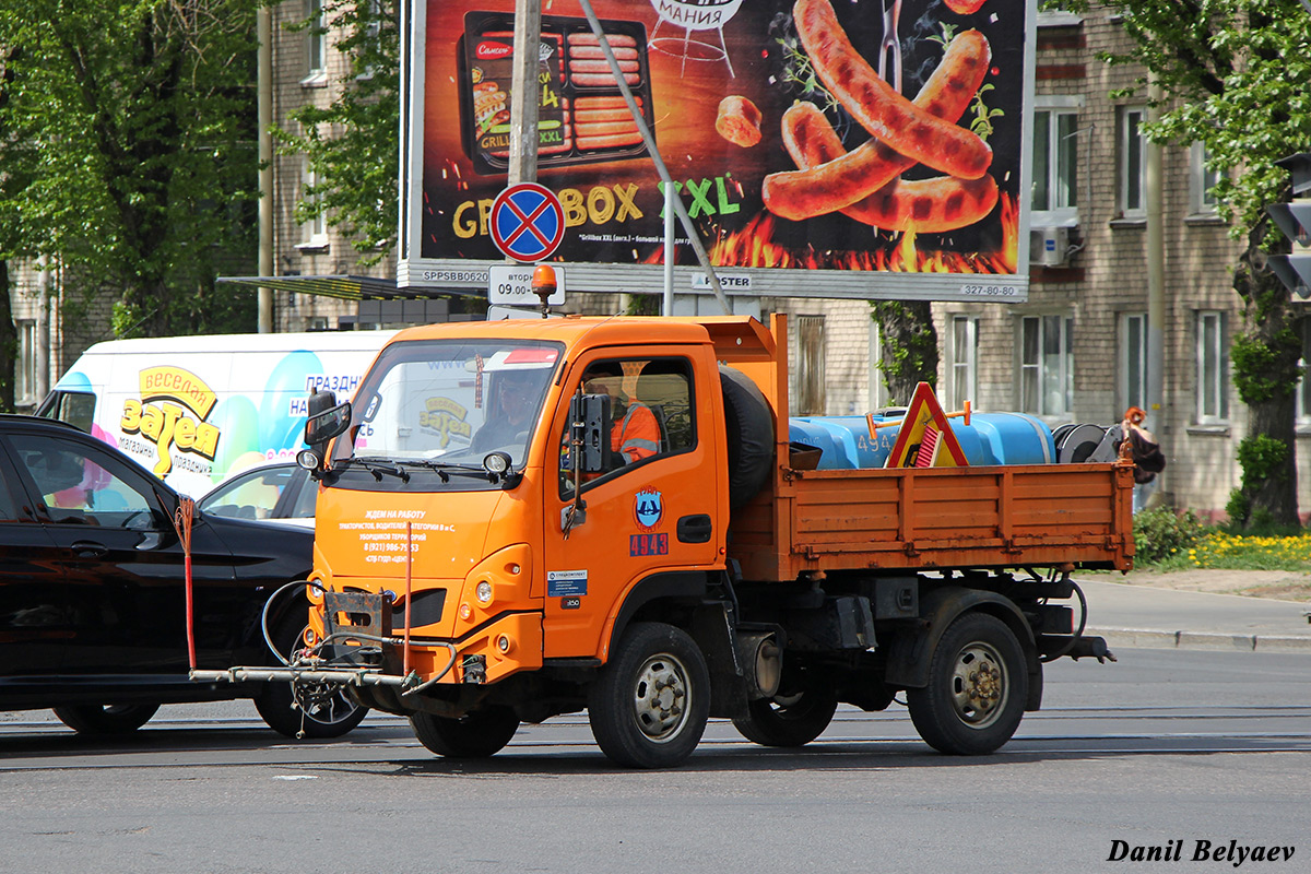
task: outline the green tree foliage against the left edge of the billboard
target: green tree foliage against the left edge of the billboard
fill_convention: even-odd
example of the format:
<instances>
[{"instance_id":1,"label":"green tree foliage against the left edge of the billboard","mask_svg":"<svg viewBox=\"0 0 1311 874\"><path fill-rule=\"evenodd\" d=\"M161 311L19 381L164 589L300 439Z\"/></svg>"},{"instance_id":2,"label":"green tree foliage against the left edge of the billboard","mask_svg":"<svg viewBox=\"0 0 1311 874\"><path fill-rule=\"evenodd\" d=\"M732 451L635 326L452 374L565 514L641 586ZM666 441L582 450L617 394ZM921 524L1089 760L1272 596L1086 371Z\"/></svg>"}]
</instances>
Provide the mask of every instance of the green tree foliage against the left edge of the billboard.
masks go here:
<instances>
[{"instance_id":1,"label":"green tree foliage against the left edge of the billboard","mask_svg":"<svg viewBox=\"0 0 1311 874\"><path fill-rule=\"evenodd\" d=\"M396 241L400 165L400 13L396 0L325 0L319 21L299 29L338 35L346 59L336 98L291 113L299 130L277 128L283 155L305 155L317 182L296 220L326 216L351 237L361 262L382 261Z\"/></svg>"}]
</instances>

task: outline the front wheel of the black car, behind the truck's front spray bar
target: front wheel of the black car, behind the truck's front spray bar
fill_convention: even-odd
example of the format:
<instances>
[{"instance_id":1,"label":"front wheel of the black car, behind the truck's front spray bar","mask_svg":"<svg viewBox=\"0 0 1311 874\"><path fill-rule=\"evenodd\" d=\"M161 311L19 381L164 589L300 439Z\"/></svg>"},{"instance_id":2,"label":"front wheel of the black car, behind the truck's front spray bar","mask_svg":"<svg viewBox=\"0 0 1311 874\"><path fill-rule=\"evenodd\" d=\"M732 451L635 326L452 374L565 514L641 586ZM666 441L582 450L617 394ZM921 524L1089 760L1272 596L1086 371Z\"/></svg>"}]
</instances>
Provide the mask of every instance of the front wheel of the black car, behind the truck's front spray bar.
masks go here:
<instances>
[{"instance_id":1,"label":"front wheel of the black car, behind the truck's front spray bar","mask_svg":"<svg viewBox=\"0 0 1311 874\"><path fill-rule=\"evenodd\" d=\"M273 639L278 641L282 654L290 656L304 646L304 634L300 620L288 620ZM340 738L368 715L368 708L355 702L346 687L329 683L266 683L254 698L254 709L278 734L315 740Z\"/></svg>"}]
</instances>

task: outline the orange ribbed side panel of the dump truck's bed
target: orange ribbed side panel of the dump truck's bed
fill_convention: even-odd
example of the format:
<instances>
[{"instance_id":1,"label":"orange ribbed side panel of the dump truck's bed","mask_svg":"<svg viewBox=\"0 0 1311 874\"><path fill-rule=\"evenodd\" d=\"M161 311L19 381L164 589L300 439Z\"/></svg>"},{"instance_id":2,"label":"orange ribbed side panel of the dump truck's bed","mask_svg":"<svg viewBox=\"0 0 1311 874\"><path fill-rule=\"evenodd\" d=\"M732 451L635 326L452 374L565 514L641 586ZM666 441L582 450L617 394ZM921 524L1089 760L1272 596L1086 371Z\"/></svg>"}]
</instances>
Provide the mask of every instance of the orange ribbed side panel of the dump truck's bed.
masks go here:
<instances>
[{"instance_id":1,"label":"orange ribbed side panel of the dump truck's bed","mask_svg":"<svg viewBox=\"0 0 1311 874\"><path fill-rule=\"evenodd\" d=\"M734 515L746 579L871 569L1133 566L1133 465L793 470Z\"/></svg>"}]
</instances>

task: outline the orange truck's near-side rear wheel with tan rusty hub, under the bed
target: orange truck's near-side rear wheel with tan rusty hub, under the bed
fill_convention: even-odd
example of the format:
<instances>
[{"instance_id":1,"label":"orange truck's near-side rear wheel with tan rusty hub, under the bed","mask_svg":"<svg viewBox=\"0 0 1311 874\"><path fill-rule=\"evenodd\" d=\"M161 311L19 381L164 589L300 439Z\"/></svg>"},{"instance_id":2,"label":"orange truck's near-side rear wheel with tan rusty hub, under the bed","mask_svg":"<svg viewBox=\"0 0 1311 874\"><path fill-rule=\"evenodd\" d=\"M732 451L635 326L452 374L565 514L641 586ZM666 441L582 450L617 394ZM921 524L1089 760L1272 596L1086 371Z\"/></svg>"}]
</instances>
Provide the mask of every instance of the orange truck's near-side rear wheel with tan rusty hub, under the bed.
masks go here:
<instances>
[{"instance_id":1,"label":"orange truck's near-side rear wheel with tan rusty hub, under the bed","mask_svg":"<svg viewBox=\"0 0 1311 874\"><path fill-rule=\"evenodd\" d=\"M928 685L907 689L906 704L928 746L978 756L1011 739L1028 693L1024 653L1011 629L995 616L965 613L939 641Z\"/></svg>"}]
</instances>

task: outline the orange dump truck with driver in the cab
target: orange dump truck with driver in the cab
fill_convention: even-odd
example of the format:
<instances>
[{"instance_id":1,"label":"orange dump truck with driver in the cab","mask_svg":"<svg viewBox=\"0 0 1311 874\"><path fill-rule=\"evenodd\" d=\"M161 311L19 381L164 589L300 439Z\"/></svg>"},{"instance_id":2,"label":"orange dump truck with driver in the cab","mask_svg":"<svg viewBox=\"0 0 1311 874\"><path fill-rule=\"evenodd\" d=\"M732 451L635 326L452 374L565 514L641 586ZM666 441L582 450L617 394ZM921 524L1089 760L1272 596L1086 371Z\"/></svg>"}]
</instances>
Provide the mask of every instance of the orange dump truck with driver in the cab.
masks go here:
<instances>
[{"instance_id":1,"label":"orange dump truck with driver in the cab","mask_svg":"<svg viewBox=\"0 0 1311 874\"><path fill-rule=\"evenodd\" d=\"M1130 567L1131 464L805 469L785 338L777 316L397 334L353 402L311 398L305 647L228 676L349 683L444 756L586 709L607 756L669 767L712 715L791 747L898 692L935 748L996 750L1045 662L1106 656L1068 574Z\"/></svg>"}]
</instances>

